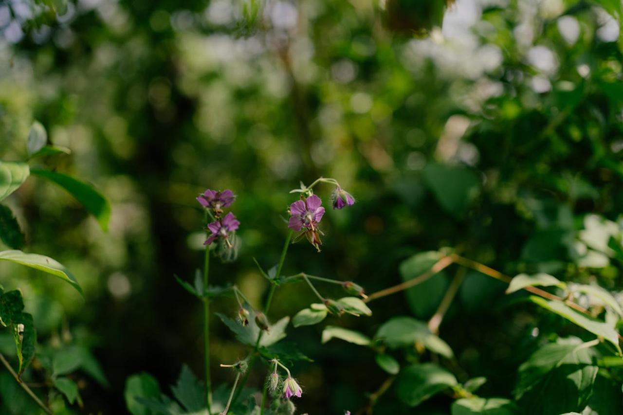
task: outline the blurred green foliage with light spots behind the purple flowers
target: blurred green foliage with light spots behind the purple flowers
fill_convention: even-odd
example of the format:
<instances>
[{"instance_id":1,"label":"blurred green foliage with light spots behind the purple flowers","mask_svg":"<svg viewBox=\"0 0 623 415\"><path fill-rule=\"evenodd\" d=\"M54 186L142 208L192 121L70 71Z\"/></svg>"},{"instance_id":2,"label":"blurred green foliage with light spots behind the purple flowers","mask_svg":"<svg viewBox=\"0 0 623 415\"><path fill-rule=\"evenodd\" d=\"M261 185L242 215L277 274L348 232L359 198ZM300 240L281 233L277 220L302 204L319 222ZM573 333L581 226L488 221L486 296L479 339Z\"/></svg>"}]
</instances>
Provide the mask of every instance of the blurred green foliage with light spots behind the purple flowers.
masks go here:
<instances>
[{"instance_id":1,"label":"blurred green foliage with light spots behind the purple flowers","mask_svg":"<svg viewBox=\"0 0 623 415\"><path fill-rule=\"evenodd\" d=\"M255 305L267 287L253 258L276 264L296 198L288 191L318 176L338 179L357 203L328 209L320 254L305 241L290 247L287 275L374 292L401 282L410 255L454 247L510 275L621 285L620 262L582 239L619 229L623 207L620 4L457 0L432 31L390 15L383 1L265 0L249 19L244 7L258 4L78 0L54 12L0 1L0 156L24 158L39 120L52 143L72 150L45 164L90 181L113 206L103 232L36 178L7 199L29 252L67 265L85 290L83 301L0 265L0 283L24 292L41 345L77 342L100 362L107 382L82 379L80 412L125 413L133 373L153 374L164 391L183 363L202 376L201 303L173 274L191 279L202 264L195 197L205 188L233 189L241 222L239 259L214 260L211 282L238 284ZM327 206L330 191L318 188ZM371 318L328 323L371 336L391 316L426 318L452 272L371 302ZM503 290L468 275L440 332L459 377L487 376L494 396L510 395L530 350L518 342L536 325L534 307L509 305ZM288 285L270 317L313 301ZM237 307L222 298L213 309ZM213 382L231 384L216 364L245 349L216 316L211 325ZM305 388L300 413L363 408L386 375L372 351L321 346L321 327L288 328L314 360L294 369ZM263 381L262 370L252 373L250 384ZM418 411L445 413L447 404L440 396ZM388 393L378 413L409 411Z\"/></svg>"}]
</instances>

